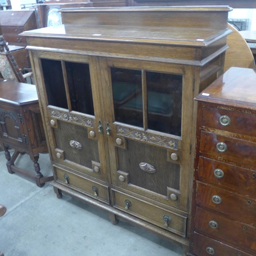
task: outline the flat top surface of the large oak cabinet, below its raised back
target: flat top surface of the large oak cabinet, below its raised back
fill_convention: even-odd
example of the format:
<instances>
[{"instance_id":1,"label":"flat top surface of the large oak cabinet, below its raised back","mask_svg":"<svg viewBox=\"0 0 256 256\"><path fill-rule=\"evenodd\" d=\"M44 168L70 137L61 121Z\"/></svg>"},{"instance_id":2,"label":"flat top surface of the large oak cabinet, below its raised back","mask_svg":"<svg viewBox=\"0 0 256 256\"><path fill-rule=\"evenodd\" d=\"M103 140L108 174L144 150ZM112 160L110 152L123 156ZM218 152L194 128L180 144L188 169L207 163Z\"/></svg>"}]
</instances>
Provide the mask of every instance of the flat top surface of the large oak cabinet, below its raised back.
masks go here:
<instances>
[{"instance_id":1,"label":"flat top surface of the large oak cabinet, below its raised back","mask_svg":"<svg viewBox=\"0 0 256 256\"><path fill-rule=\"evenodd\" d=\"M139 41L159 44L182 44L206 46L216 35L229 34L229 30L170 28L170 27L132 27L132 26L83 26L60 25L22 33L25 36L74 38L105 41Z\"/></svg>"}]
</instances>

